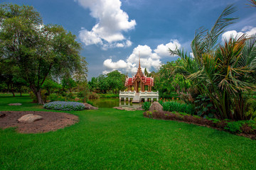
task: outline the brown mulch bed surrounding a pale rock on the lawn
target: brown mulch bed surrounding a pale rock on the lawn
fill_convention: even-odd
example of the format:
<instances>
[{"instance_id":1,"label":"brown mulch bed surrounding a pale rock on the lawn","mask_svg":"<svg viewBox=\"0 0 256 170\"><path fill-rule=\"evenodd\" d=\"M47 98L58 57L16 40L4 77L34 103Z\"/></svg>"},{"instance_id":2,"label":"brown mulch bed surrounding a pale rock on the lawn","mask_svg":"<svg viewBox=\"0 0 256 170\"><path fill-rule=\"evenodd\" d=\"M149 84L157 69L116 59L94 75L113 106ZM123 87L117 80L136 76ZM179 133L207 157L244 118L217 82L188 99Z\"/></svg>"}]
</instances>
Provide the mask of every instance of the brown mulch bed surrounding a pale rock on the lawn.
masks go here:
<instances>
[{"instance_id":1,"label":"brown mulch bed surrounding a pale rock on the lawn","mask_svg":"<svg viewBox=\"0 0 256 170\"><path fill-rule=\"evenodd\" d=\"M0 128L17 127L21 133L38 133L55 131L78 122L78 116L68 113L44 111L1 111L5 116L0 118ZM20 123L18 118L26 114L41 115L43 120L33 123Z\"/></svg>"}]
</instances>

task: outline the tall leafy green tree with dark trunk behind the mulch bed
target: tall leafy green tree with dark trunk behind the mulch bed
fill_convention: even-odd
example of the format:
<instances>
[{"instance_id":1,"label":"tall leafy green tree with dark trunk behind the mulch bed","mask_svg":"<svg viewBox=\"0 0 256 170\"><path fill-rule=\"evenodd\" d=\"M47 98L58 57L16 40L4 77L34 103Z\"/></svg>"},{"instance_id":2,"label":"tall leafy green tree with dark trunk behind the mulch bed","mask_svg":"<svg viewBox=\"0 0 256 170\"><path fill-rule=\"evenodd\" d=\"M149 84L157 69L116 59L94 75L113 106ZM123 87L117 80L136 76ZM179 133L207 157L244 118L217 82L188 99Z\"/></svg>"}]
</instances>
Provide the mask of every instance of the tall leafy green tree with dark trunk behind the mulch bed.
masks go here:
<instances>
[{"instance_id":1,"label":"tall leafy green tree with dark trunk behind the mulch bed","mask_svg":"<svg viewBox=\"0 0 256 170\"><path fill-rule=\"evenodd\" d=\"M75 35L62 26L44 25L32 6L1 4L0 57L14 64L15 75L24 79L38 104L46 77L86 74L85 58Z\"/></svg>"}]
</instances>

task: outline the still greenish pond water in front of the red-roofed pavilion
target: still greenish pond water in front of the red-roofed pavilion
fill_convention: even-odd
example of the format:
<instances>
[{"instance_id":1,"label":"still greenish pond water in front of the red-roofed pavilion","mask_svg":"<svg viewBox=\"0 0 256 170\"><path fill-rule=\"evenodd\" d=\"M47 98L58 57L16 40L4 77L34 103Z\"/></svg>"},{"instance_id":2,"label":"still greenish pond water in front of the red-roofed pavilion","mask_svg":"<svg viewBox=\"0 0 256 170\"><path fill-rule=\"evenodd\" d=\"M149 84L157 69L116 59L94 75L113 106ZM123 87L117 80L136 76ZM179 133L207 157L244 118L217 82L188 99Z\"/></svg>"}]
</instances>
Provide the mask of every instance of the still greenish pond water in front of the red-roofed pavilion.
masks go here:
<instances>
[{"instance_id":1,"label":"still greenish pond water in front of the red-roofed pavilion","mask_svg":"<svg viewBox=\"0 0 256 170\"><path fill-rule=\"evenodd\" d=\"M124 102L119 101L119 98L98 98L98 99L90 99L94 106L97 108L113 108L113 107L127 107L127 108L138 108L141 106L141 103L132 103L132 102Z\"/></svg>"}]
</instances>

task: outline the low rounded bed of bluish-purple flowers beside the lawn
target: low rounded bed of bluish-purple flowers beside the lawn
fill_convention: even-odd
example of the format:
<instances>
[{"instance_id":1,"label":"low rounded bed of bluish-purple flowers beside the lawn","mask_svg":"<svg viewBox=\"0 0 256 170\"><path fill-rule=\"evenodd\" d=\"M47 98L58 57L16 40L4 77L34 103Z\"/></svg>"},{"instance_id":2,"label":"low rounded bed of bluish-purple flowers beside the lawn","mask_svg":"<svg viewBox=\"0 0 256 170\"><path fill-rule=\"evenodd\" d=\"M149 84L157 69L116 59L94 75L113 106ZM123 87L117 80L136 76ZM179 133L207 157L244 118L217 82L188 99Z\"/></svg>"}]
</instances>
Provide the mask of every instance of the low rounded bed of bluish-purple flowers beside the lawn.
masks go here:
<instances>
[{"instance_id":1,"label":"low rounded bed of bluish-purple flowers beside the lawn","mask_svg":"<svg viewBox=\"0 0 256 170\"><path fill-rule=\"evenodd\" d=\"M73 101L53 101L46 103L43 108L61 111L81 111L85 109L85 105L83 103Z\"/></svg>"}]
</instances>

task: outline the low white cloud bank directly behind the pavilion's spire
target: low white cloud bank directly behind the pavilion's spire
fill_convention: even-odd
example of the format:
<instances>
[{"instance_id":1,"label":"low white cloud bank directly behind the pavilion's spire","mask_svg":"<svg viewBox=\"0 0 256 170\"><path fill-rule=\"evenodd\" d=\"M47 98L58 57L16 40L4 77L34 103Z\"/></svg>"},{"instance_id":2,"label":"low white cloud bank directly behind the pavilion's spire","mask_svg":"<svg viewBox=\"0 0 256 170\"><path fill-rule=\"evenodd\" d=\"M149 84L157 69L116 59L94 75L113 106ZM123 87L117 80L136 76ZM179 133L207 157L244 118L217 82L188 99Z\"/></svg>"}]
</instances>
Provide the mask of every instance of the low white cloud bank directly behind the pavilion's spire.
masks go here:
<instances>
[{"instance_id":1,"label":"low white cloud bank directly behind the pavilion's spire","mask_svg":"<svg viewBox=\"0 0 256 170\"><path fill-rule=\"evenodd\" d=\"M113 62L112 59L105 60L103 65L106 70L103 71L102 74L107 74L114 70L135 74L139 67L139 55L142 70L146 68L148 72L151 72L152 69L159 69L161 66L161 58L171 57L169 54L169 48L171 50L176 50L176 48L180 47L181 44L178 40L171 40L166 45L158 45L155 50L151 50L151 47L148 45L138 45L125 61L119 60L117 62Z\"/></svg>"}]
</instances>

